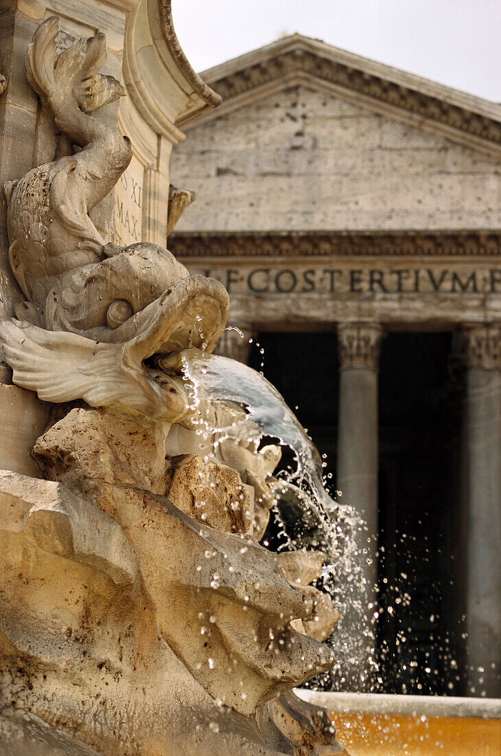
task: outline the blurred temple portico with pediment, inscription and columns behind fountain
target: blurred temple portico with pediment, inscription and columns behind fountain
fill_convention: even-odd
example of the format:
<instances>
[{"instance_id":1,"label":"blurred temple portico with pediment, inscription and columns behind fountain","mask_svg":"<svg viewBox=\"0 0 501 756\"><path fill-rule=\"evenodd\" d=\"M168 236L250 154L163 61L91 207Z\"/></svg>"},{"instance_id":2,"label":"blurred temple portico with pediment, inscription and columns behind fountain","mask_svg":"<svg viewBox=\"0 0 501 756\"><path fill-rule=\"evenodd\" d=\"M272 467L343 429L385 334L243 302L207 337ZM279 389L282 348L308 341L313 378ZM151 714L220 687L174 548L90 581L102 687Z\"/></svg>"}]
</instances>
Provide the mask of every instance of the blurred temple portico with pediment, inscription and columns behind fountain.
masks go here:
<instances>
[{"instance_id":1,"label":"blurred temple portico with pediment, inscription and columns behind fountain","mask_svg":"<svg viewBox=\"0 0 501 756\"><path fill-rule=\"evenodd\" d=\"M427 446L435 469L435 493L426 494L436 498L428 503L431 533L430 520L447 510L440 514L448 535L437 547L436 569L441 559L454 562L452 578L444 578L456 596L445 600L449 624L458 637L468 634L454 660L466 684L454 690L494 696L501 633L501 108L300 35L202 76L223 104L186 124L186 141L174 150L171 181L199 199L169 248L229 290L231 322L244 339L226 333L226 354L252 361L249 339L266 341L266 334L272 345L296 333L306 348L311 334L327 351L337 349L335 367L326 357L335 376L322 373L318 358L304 381L314 393L318 376L318 385L331 386L317 397L325 407L336 404L335 438L325 449L336 460L343 501L367 522L367 601L374 606L383 580L381 518L391 510L398 550L405 506L403 489L392 483L405 475L402 463L395 457L396 472L383 470L390 452L378 414L395 395L392 380L403 391L402 412L408 401L401 384L420 381L417 368L407 374L398 361L398 344L416 360L412 339L428 350L435 344L436 364L430 357L423 375L438 375L440 363L438 399L430 394L407 430L410 438L412 423L424 423L419 415L433 402L446 424L457 416L452 472L441 475L441 452L431 451L434 436L447 445L451 432L442 421L436 433L430 426L423 435L431 441L415 442L410 463L419 468ZM274 349L265 355L265 374ZM389 376L384 386L381 370L381 380ZM438 493L444 476L453 479L447 506ZM388 503L392 485L401 505ZM416 533L414 556L421 548ZM433 628L429 634L430 654L439 654Z\"/></svg>"}]
</instances>

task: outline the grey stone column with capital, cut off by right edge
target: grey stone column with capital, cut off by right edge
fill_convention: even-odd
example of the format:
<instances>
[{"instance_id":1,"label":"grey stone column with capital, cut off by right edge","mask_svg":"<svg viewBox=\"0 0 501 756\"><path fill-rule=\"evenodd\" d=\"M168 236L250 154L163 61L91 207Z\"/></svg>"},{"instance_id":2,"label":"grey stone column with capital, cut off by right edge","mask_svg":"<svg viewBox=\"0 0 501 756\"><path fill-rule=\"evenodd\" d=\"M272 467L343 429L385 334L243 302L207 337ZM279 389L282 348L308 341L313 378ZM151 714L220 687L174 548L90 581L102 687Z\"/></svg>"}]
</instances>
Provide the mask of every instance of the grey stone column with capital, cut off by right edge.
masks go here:
<instances>
[{"instance_id":1,"label":"grey stone column with capital, cut off by right edge","mask_svg":"<svg viewBox=\"0 0 501 756\"><path fill-rule=\"evenodd\" d=\"M464 335L468 693L492 698L501 692L501 324Z\"/></svg>"}]
</instances>

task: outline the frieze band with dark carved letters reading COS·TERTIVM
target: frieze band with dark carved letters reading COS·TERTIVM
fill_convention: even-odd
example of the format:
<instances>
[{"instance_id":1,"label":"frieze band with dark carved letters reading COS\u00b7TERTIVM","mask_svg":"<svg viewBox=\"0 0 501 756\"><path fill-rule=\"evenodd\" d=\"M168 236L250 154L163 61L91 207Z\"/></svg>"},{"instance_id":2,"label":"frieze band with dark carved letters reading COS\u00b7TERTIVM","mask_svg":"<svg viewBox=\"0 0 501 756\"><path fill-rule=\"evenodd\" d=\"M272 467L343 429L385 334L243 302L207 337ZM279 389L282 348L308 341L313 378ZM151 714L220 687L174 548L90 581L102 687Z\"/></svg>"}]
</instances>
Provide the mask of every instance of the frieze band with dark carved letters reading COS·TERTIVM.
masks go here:
<instances>
[{"instance_id":1,"label":"frieze band with dark carved letters reading COS\u00b7TERTIVM","mask_svg":"<svg viewBox=\"0 0 501 756\"><path fill-rule=\"evenodd\" d=\"M338 261L337 261L338 262ZM350 261L352 262L352 261ZM501 266L487 265L223 265L199 266L229 293L501 294Z\"/></svg>"}]
</instances>

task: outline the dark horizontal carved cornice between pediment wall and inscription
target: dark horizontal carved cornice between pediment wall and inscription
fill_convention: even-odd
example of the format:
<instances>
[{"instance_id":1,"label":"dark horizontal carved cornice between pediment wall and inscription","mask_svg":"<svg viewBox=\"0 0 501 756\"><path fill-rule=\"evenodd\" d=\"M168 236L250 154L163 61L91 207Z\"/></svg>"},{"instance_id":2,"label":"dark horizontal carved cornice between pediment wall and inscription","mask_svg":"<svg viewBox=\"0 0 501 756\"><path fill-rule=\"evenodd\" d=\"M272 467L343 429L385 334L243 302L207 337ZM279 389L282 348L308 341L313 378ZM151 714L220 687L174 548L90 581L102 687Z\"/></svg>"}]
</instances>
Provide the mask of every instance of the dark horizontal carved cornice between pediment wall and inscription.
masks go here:
<instances>
[{"instance_id":1,"label":"dark horizontal carved cornice between pediment wall and inscription","mask_svg":"<svg viewBox=\"0 0 501 756\"><path fill-rule=\"evenodd\" d=\"M501 256L499 231L311 231L308 233L173 233L180 258L327 256Z\"/></svg>"}]
</instances>

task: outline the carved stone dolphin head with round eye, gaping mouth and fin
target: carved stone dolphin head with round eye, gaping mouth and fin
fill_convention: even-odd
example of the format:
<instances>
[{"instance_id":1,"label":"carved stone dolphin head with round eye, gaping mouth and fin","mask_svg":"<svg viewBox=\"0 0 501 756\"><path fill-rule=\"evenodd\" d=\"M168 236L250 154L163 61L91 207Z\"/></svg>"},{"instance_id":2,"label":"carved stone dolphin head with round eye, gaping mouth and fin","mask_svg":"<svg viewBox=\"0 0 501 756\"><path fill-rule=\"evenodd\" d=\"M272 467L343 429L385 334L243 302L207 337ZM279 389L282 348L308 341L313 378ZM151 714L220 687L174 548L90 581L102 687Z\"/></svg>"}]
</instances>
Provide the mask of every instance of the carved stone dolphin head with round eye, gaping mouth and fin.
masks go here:
<instances>
[{"instance_id":1,"label":"carved stone dolphin head with round eye, gaping mouth and fin","mask_svg":"<svg viewBox=\"0 0 501 756\"><path fill-rule=\"evenodd\" d=\"M226 324L229 297L167 249L136 244L84 266L48 297L54 330L3 321L0 338L14 383L45 401L78 398L152 420L189 412L183 376L162 358L186 347L211 352Z\"/></svg>"}]
</instances>

